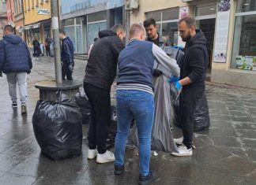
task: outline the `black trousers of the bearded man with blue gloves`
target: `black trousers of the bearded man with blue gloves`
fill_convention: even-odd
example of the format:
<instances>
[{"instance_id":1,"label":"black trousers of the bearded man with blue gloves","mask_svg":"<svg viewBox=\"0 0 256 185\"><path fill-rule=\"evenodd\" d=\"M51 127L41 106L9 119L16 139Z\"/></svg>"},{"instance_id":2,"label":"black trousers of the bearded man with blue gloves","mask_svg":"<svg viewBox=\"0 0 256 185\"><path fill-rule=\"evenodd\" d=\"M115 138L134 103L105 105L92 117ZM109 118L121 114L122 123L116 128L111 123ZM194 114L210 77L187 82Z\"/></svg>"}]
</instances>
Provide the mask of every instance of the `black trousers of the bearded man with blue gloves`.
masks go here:
<instances>
[{"instance_id":1,"label":"black trousers of the bearded man with blue gloves","mask_svg":"<svg viewBox=\"0 0 256 185\"><path fill-rule=\"evenodd\" d=\"M204 88L192 87L183 89L180 94L180 117L184 137L183 144L188 149L193 146L194 112L204 92Z\"/></svg>"}]
</instances>

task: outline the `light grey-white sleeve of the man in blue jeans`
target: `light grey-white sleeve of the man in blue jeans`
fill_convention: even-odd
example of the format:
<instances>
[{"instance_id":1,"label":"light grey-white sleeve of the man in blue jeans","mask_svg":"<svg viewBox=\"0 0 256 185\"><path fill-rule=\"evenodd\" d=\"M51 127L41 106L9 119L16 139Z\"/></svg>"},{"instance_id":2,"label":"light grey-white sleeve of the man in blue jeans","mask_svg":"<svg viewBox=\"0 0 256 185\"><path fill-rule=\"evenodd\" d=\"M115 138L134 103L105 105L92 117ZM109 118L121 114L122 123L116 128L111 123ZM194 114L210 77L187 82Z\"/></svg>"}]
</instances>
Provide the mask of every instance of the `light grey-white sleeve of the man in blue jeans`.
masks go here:
<instances>
[{"instance_id":1,"label":"light grey-white sleeve of the man in blue jeans","mask_svg":"<svg viewBox=\"0 0 256 185\"><path fill-rule=\"evenodd\" d=\"M152 54L156 58L156 62L160 65L163 65L168 71L171 72L174 76L179 76L179 65L177 65L177 61L168 57L168 55L156 44L152 45Z\"/></svg>"}]
</instances>

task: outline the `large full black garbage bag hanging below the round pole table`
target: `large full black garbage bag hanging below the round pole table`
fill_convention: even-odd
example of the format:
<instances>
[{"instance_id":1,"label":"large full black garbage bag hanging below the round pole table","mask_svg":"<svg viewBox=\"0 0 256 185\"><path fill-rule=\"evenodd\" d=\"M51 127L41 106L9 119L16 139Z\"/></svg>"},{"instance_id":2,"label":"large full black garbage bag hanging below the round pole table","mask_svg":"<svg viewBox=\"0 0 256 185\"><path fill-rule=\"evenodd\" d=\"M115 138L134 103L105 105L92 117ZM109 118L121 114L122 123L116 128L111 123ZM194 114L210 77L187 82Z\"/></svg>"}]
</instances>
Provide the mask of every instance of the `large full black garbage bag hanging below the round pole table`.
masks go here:
<instances>
[{"instance_id":1,"label":"large full black garbage bag hanging below the round pole table","mask_svg":"<svg viewBox=\"0 0 256 185\"><path fill-rule=\"evenodd\" d=\"M38 101L32 117L36 141L51 160L81 154L81 113L75 102L58 92L56 102Z\"/></svg>"}]
</instances>

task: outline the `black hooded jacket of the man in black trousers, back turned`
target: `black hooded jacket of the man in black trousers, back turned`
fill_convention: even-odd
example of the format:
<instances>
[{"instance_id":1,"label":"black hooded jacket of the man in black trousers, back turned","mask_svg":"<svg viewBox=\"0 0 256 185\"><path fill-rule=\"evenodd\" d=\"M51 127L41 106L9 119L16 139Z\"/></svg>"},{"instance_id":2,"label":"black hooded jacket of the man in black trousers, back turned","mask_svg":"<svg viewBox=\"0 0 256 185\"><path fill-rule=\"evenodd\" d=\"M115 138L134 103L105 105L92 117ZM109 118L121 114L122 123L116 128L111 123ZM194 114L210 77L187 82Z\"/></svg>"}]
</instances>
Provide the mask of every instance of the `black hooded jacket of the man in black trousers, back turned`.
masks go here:
<instances>
[{"instance_id":1,"label":"black hooded jacket of the man in black trousers, back turned","mask_svg":"<svg viewBox=\"0 0 256 185\"><path fill-rule=\"evenodd\" d=\"M115 31L100 31L99 37L92 46L84 82L110 91L116 76L119 53L124 45Z\"/></svg>"}]
</instances>

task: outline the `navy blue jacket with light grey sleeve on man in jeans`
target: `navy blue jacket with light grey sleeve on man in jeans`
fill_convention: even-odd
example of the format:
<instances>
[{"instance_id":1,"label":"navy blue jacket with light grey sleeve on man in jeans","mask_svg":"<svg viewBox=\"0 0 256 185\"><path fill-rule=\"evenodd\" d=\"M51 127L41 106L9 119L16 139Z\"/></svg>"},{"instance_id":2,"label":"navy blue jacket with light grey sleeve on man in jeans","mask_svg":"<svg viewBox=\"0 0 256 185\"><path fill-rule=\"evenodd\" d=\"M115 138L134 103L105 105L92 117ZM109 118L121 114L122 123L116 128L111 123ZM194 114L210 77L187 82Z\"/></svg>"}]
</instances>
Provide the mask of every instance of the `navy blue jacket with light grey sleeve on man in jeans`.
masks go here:
<instances>
[{"instance_id":1,"label":"navy blue jacket with light grey sleeve on man in jeans","mask_svg":"<svg viewBox=\"0 0 256 185\"><path fill-rule=\"evenodd\" d=\"M153 89L154 61L179 76L179 66L164 50L149 41L132 40L119 54L118 85L141 84Z\"/></svg>"}]
</instances>

